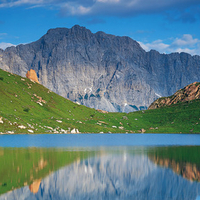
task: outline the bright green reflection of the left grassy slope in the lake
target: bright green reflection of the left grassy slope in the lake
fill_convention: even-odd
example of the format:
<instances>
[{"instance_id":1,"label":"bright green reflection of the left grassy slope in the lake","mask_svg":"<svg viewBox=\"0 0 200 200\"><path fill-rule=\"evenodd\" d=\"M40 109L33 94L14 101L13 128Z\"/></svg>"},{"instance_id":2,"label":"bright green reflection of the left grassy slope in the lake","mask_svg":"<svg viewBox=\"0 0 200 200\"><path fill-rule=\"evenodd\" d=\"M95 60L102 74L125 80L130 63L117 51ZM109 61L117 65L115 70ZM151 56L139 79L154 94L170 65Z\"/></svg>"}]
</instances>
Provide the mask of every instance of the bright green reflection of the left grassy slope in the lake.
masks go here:
<instances>
[{"instance_id":1,"label":"bright green reflection of the left grassy slope in the lake","mask_svg":"<svg viewBox=\"0 0 200 200\"><path fill-rule=\"evenodd\" d=\"M92 151L67 149L0 148L0 195L93 155Z\"/></svg>"}]
</instances>

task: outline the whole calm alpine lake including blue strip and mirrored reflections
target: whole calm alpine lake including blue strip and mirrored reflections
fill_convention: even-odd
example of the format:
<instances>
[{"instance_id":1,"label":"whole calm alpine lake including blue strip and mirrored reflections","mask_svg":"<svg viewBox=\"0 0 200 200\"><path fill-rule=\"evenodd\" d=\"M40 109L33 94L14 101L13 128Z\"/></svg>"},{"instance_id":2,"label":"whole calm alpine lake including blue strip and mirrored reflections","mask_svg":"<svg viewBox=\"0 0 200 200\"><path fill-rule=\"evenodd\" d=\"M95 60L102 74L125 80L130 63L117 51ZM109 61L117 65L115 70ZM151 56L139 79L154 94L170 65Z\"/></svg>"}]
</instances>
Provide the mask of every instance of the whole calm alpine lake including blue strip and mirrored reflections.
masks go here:
<instances>
[{"instance_id":1,"label":"whole calm alpine lake including blue strip and mirrored reflections","mask_svg":"<svg viewBox=\"0 0 200 200\"><path fill-rule=\"evenodd\" d=\"M200 135L0 135L4 199L200 200Z\"/></svg>"}]
</instances>

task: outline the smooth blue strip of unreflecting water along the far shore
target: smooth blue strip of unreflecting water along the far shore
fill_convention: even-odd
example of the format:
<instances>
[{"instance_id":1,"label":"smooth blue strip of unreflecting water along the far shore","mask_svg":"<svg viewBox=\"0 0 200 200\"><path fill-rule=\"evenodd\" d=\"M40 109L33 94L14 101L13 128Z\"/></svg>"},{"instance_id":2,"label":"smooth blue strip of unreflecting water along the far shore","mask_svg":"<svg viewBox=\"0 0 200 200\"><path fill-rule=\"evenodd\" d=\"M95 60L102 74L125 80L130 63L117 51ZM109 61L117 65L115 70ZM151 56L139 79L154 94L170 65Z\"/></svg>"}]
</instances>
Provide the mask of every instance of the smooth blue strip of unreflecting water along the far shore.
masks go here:
<instances>
[{"instance_id":1,"label":"smooth blue strip of unreflecting water along the far shore","mask_svg":"<svg viewBox=\"0 0 200 200\"><path fill-rule=\"evenodd\" d=\"M200 145L200 134L0 135L0 147Z\"/></svg>"}]
</instances>

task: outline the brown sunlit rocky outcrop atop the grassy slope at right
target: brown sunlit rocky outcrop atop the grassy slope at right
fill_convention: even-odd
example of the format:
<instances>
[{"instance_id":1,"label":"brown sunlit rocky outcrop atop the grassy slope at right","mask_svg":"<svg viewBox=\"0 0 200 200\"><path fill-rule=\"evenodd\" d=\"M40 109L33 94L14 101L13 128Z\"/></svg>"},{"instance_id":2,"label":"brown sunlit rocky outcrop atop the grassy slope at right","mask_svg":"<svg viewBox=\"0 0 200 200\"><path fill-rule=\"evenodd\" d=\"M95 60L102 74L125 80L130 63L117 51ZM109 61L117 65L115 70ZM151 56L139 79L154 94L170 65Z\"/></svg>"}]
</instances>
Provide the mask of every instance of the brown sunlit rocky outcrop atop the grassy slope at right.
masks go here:
<instances>
[{"instance_id":1,"label":"brown sunlit rocky outcrop atop the grassy slope at right","mask_svg":"<svg viewBox=\"0 0 200 200\"><path fill-rule=\"evenodd\" d=\"M178 90L170 97L159 98L154 101L148 109L155 109L164 106L169 106L179 102L191 101L200 99L200 83L194 82L183 89Z\"/></svg>"}]
</instances>

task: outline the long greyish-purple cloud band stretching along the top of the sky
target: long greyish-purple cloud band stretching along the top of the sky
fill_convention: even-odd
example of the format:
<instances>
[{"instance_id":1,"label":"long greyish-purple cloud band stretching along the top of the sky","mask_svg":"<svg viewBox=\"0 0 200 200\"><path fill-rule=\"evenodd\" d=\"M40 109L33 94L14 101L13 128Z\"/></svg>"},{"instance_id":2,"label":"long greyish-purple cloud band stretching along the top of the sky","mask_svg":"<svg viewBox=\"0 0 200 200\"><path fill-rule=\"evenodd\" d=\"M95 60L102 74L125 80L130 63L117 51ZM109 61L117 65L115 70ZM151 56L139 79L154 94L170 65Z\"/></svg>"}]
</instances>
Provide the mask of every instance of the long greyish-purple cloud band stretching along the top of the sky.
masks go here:
<instances>
[{"instance_id":1,"label":"long greyish-purple cloud band stretching along the top of the sky","mask_svg":"<svg viewBox=\"0 0 200 200\"><path fill-rule=\"evenodd\" d=\"M179 16L171 20L194 21L185 10L190 6L200 6L199 0L0 0L1 7L14 6L56 6L63 15L109 15L133 16L141 13L163 12L169 9L180 10ZM196 7L195 6L195 7Z\"/></svg>"}]
</instances>

